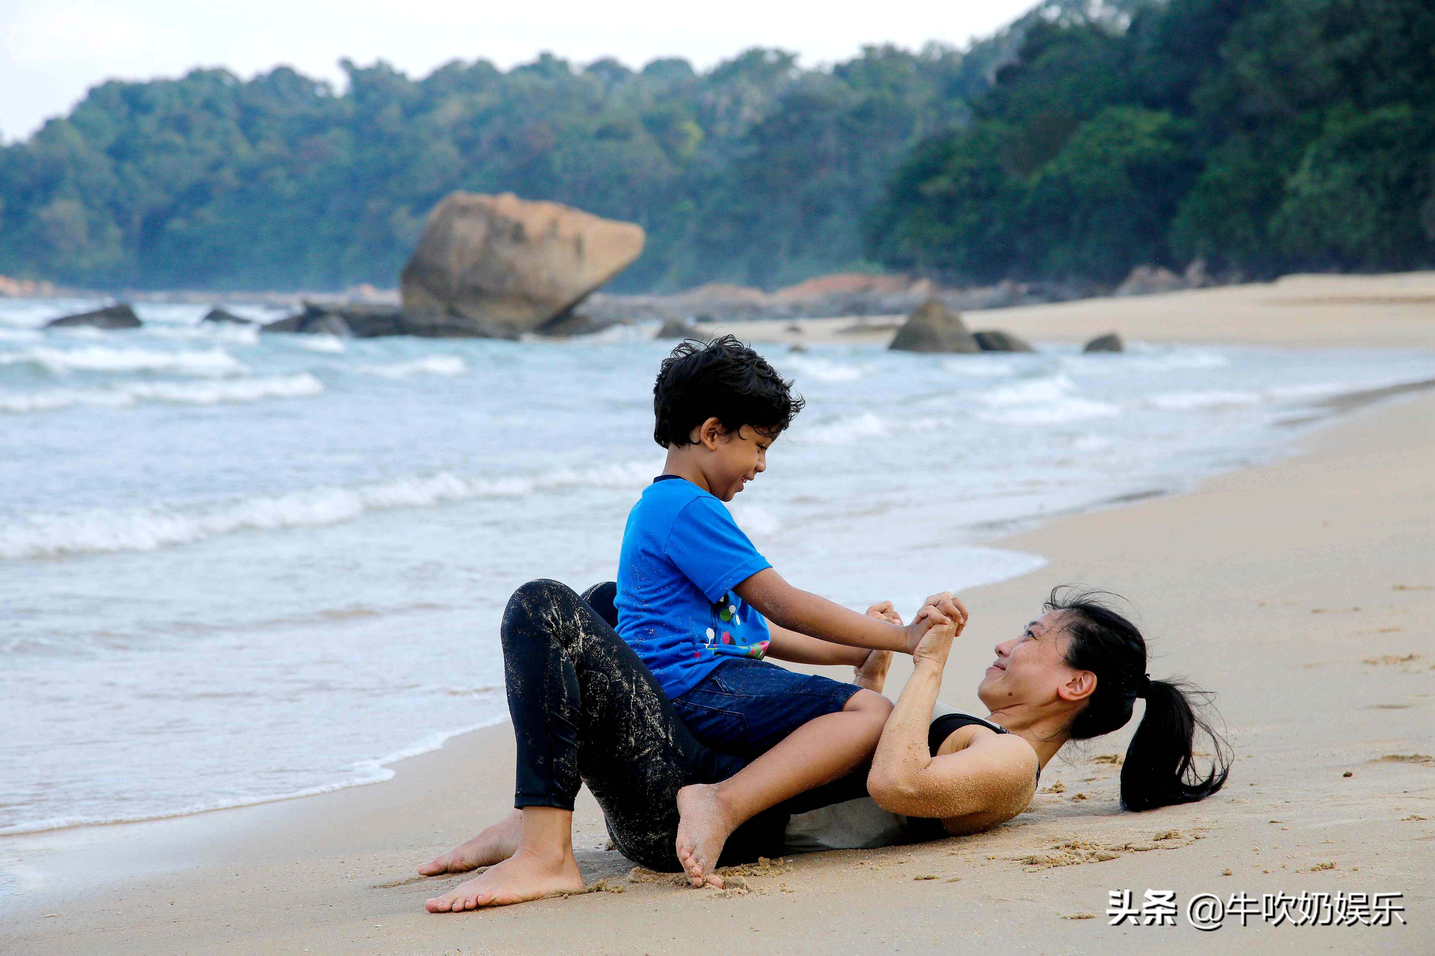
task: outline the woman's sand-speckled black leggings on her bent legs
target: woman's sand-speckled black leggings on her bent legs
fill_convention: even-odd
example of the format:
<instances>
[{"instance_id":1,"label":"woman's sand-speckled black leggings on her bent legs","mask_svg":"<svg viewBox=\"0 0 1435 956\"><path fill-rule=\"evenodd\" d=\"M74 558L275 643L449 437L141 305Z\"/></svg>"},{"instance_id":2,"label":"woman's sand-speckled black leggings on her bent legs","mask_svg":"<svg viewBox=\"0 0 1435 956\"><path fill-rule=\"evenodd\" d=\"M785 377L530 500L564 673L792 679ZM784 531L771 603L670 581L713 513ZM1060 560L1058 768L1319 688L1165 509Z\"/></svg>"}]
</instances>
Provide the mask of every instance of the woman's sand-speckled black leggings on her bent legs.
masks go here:
<instances>
[{"instance_id":1,"label":"woman's sand-speckled black leggings on her bent legs","mask_svg":"<svg viewBox=\"0 0 1435 956\"><path fill-rule=\"evenodd\" d=\"M613 629L616 591L608 582L580 598L557 580L531 580L508 601L502 641L518 740L514 806L573 810L587 784L623 856L677 871L677 791L726 780L746 761L703 747L683 727ZM728 840L722 864L779 856L795 811L784 806L745 823Z\"/></svg>"}]
</instances>

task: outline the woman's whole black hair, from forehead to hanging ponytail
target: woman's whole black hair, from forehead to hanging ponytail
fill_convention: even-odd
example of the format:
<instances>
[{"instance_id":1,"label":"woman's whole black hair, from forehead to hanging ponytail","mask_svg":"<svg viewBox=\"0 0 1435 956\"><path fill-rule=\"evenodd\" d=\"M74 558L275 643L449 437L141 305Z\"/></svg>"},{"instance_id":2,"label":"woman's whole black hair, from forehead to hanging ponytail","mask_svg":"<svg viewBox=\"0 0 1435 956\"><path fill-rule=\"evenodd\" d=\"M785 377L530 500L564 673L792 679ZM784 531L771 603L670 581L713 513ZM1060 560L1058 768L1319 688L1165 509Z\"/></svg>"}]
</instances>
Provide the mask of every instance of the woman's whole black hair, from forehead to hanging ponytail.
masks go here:
<instances>
[{"instance_id":1,"label":"woman's whole black hair, from forehead to hanging ponytail","mask_svg":"<svg viewBox=\"0 0 1435 956\"><path fill-rule=\"evenodd\" d=\"M1210 695L1177 681L1152 681L1145 672L1145 638L1106 605L1106 596L1056 588L1046 602L1048 611L1068 615L1066 664L1096 675L1096 689L1068 730L1071 738L1089 740L1121 730L1131 720L1137 698L1144 697L1147 712L1121 767L1122 806L1155 810L1210 797L1231 773L1230 745L1191 707L1191 698ZM1205 777L1197 770L1197 731L1213 747L1211 771Z\"/></svg>"}]
</instances>

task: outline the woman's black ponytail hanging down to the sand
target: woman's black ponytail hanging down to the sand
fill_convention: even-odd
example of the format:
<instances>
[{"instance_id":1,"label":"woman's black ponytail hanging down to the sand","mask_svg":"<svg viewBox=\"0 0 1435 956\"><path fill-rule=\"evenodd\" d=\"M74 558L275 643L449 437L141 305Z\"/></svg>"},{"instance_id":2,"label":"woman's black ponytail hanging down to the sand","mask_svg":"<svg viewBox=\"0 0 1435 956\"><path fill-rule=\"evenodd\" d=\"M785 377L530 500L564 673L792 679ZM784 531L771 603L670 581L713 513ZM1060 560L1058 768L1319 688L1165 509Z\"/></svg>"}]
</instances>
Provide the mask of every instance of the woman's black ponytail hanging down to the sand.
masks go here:
<instances>
[{"instance_id":1,"label":"woman's black ponytail hanging down to the sand","mask_svg":"<svg viewBox=\"0 0 1435 956\"><path fill-rule=\"evenodd\" d=\"M1121 803L1126 810L1204 800L1225 783L1231 773L1230 748L1191 707L1188 695L1198 694L1201 691L1181 684L1149 681L1147 712L1121 765ZM1214 747L1211 773L1205 777L1195 768L1197 730L1210 737Z\"/></svg>"}]
</instances>

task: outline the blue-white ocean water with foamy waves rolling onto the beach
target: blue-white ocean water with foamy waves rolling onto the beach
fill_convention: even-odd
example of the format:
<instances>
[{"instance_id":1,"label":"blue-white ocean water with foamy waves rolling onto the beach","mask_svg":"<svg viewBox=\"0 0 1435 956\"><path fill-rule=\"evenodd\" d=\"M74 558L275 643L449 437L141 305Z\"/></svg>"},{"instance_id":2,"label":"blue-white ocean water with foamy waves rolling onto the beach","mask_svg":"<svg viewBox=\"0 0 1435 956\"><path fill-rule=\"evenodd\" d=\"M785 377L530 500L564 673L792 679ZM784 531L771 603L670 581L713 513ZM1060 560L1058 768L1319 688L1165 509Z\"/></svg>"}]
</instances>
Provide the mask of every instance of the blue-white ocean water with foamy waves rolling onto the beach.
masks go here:
<instances>
[{"instance_id":1,"label":"blue-white ocean water with foamy waves rolling onto the beach","mask_svg":"<svg viewBox=\"0 0 1435 956\"><path fill-rule=\"evenodd\" d=\"M39 328L90 305L0 301L0 834L383 780L504 720L508 595L610 579L662 466L651 328L343 341L179 305ZM1042 565L984 543L1004 532L1267 460L1323 398L1435 377L1393 350L766 354L809 404L738 522L795 583L904 611Z\"/></svg>"}]
</instances>

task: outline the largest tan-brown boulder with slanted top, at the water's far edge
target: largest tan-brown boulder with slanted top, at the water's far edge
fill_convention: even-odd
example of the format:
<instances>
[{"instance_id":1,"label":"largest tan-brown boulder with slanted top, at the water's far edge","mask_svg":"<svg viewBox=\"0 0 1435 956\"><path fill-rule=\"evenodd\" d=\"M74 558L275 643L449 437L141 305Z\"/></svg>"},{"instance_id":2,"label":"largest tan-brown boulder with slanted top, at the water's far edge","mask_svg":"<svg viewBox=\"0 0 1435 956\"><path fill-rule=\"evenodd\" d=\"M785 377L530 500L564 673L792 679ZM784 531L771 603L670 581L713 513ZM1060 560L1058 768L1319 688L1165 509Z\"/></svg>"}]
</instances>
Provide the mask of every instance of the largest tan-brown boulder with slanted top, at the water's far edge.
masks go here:
<instances>
[{"instance_id":1,"label":"largest tan-brown boulder with slanted top, at the water's far edge","mask_svg":"<svg viewBox=\"0 0 1435 956\"><path fill-rule=\"evenodd\" d=\"M505 192L446 196L403 267L403 315L517 338L570 314L643 252L643 226ZM422 333L416 333L422 334Z\"/></svg>"}]
</instances>

